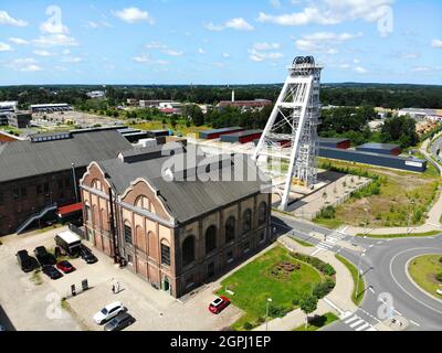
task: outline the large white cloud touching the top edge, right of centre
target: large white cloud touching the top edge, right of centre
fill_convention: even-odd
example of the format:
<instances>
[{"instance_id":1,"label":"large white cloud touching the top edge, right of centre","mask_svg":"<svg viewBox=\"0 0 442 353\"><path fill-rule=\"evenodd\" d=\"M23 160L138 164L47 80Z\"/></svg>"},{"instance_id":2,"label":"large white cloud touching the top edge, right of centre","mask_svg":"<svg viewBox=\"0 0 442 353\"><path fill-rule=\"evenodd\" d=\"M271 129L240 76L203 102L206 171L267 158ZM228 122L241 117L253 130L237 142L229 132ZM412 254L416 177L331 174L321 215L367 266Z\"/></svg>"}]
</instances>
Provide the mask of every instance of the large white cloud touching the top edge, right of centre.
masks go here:
<instances>
[{"instance_id":1,"label":"large white cloud touching the top edge, right of centre","mask_svg":"<svg viewBox=\"0 0 442 353\"><path fill-rule=\"evenodd\" d=\"M393 2L394 0L320 0L299 12L276 15L260 12L257 21L280 25L326 25L357 19L375 22L386 15L387 6Z\"/></svg>"}]
</instances>

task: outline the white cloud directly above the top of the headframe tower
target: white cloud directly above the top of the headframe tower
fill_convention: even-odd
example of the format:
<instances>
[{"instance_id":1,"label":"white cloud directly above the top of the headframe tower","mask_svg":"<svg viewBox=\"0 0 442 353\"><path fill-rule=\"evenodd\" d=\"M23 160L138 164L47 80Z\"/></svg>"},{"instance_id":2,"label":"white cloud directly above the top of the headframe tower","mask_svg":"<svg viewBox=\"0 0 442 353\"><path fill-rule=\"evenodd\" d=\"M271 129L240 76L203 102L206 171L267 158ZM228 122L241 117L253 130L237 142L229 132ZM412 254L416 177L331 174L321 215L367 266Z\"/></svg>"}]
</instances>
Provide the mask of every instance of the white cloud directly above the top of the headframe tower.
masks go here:
<instances>
[{"instance_id":1,"label":"white cloud directly above the top of the headframe tower","mask_svg":"<svg viewBox=\"0 0 442 353\"><path fill-rule=\"evenodd\" d=\"M361 35L362 33L317 32L304 35L302 39L296 40L295 44L298 50L304 52L336 54L338 53L337 46Z\"/></svg>"}]
</instances>

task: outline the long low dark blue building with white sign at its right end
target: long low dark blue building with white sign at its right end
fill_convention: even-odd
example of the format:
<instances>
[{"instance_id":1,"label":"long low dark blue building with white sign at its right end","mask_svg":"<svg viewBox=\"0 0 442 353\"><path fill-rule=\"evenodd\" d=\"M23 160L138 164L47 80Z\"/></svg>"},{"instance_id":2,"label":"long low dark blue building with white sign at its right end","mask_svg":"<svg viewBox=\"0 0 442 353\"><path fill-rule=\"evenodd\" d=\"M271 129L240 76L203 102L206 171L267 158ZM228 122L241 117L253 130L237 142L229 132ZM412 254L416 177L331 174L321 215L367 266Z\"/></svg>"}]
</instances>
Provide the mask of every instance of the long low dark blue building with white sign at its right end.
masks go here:
<instances>
[{"instance_id":1,"label":"long low dark blue building with white sign at its right end","mask_svg":"<svg viewBox=\"0 0 442 353\"><path fill-rule=\"evenodd\" d=\"M319 157L420 173L423 173L427 170L425 160L398 157L386 153L380 154L357 150L343 150L339 148L319 147Z\"/></svg>"}]
</instances>

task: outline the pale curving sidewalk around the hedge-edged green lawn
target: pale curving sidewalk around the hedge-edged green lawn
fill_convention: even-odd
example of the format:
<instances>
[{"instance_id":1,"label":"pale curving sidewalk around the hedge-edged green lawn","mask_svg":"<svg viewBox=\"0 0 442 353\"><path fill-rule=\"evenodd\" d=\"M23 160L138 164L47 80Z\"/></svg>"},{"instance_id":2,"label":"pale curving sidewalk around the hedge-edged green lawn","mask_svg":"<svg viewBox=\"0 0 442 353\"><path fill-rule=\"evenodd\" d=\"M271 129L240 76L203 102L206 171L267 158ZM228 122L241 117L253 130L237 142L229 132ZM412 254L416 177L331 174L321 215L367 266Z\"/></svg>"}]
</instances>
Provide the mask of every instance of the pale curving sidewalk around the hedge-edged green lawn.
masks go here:
<instances>
[{"instance_id":1,"label":"pale curving sidewalk around the hedge-edged green lawn","mask_svg":"<svg viewBox=\"0 0 442 353\"><path fill-rule=\"evenodd\" d=\"M316 247L302 246L287 235L281 236L278 242L290 250L295 250L306 255L312 254L316 249ZM319 299L316 311L311 313L308 317L312 318L314 315L322 315L330 311L338 315L345 313L346 311L355 312L358 308L351 301L354 282L351 274L347 267L345 267L345 265L340 263L332 252L320 252L316 254L315 257L330 264L335 268L336 286L328 296ZM269 321L267 328L270 331L291 331L302 324L305 324L305 313L301 309L296 309L288 312L283 318ZM254 331L265 330L265 323L254 329Z\"/></svg>"}]
</instances>

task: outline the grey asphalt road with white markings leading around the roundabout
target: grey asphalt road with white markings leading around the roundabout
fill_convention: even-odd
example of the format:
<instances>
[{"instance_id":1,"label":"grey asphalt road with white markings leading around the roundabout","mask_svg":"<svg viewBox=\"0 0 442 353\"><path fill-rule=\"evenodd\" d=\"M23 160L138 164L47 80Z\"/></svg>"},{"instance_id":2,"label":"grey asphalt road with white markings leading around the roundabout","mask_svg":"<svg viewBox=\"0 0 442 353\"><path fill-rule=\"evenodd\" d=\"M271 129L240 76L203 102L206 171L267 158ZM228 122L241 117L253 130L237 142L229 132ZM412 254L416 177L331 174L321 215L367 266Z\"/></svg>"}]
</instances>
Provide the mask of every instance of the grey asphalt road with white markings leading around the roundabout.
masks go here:
<instances>
[{"instance_id":1,"label":"grey asphalt road with white markings leading around the roundabout","mask_svg":"<svg viewBox=\"0 0 442 353\"><path fill-rule=\"evenodd\" d=\"M273 224L280 232L292 228L292 236L314 245L319 242L311 237L308 232L314 229L322 234L332 233L328 228L313 226L283 215L274 216ZM438 301L418 289L406 271L408 261L415 256L422 254L441 254L442 256L442 234L433 237L390 239L346 236L341 240L356 243L366 249L365 255L360 256L356 252L338 246L330 248L356 266L360 260L360 269L366 284L365 299L356 312L360 319L372 325L388 319L382 315L381 310L386 307L386 299L382 301L380 298L388 298L385 296L390 295L392 304L387 310L388 315L394 314L407 319L409 325L406 330L442 330L442 301ZM380 312L378 313L378 311ZM345 321L338 321L325 330L354 331Z\"/></svg>"}]
</instances>

